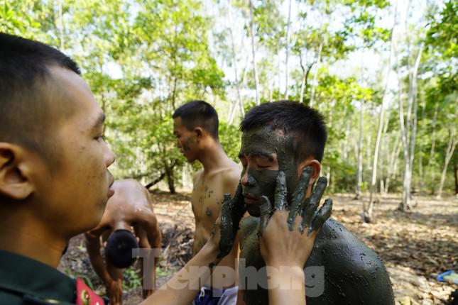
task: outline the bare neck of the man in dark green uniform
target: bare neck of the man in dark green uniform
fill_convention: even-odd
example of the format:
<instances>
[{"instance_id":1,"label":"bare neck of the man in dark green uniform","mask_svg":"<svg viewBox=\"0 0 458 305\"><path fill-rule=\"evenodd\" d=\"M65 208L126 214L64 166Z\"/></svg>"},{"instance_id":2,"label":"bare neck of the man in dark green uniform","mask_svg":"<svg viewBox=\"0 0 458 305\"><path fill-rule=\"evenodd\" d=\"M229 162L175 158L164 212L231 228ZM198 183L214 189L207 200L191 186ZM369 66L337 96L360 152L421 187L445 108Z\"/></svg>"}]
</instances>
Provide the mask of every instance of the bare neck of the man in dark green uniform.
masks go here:
<instances>
[{"instance_id":1,"label":"bare neck of the man in dark green uniform","mask_svg":"<svg viewBox=\"0 0 458 305\"><path fill-rule=\"evenodd\" d=\"M5 215L5 214L2 214ZM12 216L12 217L11 217ZM22 255L50 267L58 267L65 238L55 238L48 230L28 217L11 215L0 227L0 250Z\"/></svg>"}]
</instances>

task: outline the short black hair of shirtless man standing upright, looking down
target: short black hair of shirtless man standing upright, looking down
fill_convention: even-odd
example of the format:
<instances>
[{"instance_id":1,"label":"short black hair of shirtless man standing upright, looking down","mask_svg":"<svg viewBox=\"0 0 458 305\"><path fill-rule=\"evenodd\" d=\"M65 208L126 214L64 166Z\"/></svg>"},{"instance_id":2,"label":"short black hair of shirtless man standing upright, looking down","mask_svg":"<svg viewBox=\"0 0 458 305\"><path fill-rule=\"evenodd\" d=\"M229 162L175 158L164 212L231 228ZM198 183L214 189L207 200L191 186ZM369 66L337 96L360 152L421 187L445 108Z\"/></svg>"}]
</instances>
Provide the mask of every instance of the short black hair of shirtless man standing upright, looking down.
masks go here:
<instances>
[{"instance_id":1,"label":"short black hair of shirtless man standing upright, looking down","mask_svg":"<svg viewBox=\"0 0 458 305\"><path fill-rule=\"evenodd\" d=\"M173 118L181 117L182 124L190 131L197 126L202 127L218 140L219 119L218 113L212 105L205 101L189 101L178 107L173 113Z\"/></svg>"}]
</instances>

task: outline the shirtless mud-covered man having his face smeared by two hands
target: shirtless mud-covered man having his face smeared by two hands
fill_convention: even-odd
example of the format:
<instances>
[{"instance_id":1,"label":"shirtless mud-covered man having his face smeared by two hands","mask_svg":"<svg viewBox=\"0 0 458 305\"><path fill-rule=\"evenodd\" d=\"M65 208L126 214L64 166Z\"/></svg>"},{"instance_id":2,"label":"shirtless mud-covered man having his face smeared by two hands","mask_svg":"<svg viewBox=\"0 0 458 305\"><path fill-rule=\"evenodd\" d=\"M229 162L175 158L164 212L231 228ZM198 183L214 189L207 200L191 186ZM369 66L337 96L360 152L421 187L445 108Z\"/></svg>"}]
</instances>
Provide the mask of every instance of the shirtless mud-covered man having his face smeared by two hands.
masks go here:
<instances>
[{"instance_id":1,"label":"shirtless mud-covered man having his face smeared by two hands","mask_svg":"<svg viewBox=\"0 0 458 305\"><path fill-rule=\"evenodd\" d=\"M327 182L317 177L327 132L320 113L290 101L254 107L241 122L241 131L241 192L250 216L240 225L240 260L246 267L239 269L238 304L268 304L268 291L262 285L246 287L253 276L267 280L258 238L261 196L273 201L281 175L285 177L289 206L295 205L290 195L295 197L302 190L308 197L305 204L314 201L315 193L310 196L310 189L315 182L321 196ZM298 183L299 177L307 178L307 183ZM253 267L259 270L256 275ZM323 224L304 267L317 268L315 279L312 276L307 285L307 304L394 304L391 282L378 255L333 219Z\"/></svg>"}]
</instances>

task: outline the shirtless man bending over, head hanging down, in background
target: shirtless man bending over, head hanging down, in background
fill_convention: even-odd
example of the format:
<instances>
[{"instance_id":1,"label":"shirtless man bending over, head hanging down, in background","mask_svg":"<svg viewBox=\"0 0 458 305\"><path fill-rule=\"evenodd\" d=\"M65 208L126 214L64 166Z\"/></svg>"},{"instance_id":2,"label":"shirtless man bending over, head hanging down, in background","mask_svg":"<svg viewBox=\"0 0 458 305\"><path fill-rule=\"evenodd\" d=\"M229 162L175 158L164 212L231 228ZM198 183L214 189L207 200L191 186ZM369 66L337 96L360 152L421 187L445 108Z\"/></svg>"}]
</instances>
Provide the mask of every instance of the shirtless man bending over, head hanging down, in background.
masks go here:
<instances>
[{"instance_id":1,"label":"shirtless man bending over, head hanging down, in background","mask_svg":"<svg viewBox=\"0 0 458 305\"><path fill-rule=\"evenodd\" d=\"M150 195L141 184L133 179L120 180L114 182L113 189L114 196L107 203L102 221L84 236L92 267L107 288L110 304L121 304L122 274L136 260L132 249L160 249L160 231L151 210ZM104 248L106 263L101 248ZM154 292L157 262L158 256L143 277L142 260L143 298ZM150 287L145 286L144 279L149 281Z\"/></svg>"}]
</instances>

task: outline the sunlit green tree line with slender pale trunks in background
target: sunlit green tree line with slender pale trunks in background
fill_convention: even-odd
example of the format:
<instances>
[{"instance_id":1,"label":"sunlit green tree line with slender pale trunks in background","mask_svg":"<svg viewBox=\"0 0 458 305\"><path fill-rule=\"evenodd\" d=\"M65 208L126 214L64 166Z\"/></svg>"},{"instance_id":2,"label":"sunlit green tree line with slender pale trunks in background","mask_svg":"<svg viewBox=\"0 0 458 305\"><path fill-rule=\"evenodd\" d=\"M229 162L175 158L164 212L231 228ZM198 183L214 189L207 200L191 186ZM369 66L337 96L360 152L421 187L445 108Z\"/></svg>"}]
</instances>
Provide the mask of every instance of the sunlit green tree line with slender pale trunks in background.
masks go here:
<instances>
[{"instance_id":1,"label":"sunlit green tree line with slender pale trunks in background","mask_svg":"<svg viewBox=\"0 0 458 305\"><path fill-rule=\"evenodd\" d=\"M457 2L0 0L0 30L60 48L107 113L117 178L170 192L192 168L174 109L204 99L237 159L251 106L293 99L325 115L332 192L458 194Z\"/></svg>"}]
</instances>

